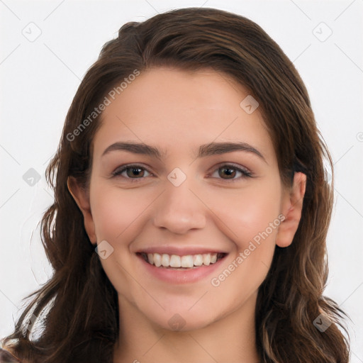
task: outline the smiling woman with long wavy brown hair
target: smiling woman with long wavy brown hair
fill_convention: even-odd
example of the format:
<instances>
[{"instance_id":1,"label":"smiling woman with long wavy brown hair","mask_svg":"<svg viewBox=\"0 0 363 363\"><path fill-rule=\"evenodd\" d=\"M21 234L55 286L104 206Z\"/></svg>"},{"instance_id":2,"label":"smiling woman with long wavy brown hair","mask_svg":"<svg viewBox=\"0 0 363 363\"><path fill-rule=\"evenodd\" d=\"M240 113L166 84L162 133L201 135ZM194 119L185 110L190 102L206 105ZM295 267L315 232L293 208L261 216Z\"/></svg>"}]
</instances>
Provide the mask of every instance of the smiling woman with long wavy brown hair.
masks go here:
<instances>
[{"instance_id":1,"label":"smiling woman with long wavy brown hair","mask_svg":"<svg viewBox=\"0 0 363 363\"><path fill-rule=\"evenodd\" d=\"M194 8L125 24L69 108L43 217L55 273L4 346L32 363L348 362L323 296L324 158L257 24Z\"/></svg>"}]
</instances>

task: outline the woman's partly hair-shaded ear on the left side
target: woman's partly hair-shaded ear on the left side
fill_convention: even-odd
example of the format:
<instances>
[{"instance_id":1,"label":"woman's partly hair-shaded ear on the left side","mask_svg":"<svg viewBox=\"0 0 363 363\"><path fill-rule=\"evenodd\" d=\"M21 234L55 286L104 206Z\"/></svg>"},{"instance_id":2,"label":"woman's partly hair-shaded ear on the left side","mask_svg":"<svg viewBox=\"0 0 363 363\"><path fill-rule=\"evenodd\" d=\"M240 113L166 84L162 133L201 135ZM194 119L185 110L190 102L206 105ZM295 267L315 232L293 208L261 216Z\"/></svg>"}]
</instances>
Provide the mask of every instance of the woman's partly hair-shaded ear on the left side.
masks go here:
<instances>
[{"instance_id":1,"label":"woman's partly hair-shaded ear on the left side","mask_svg":"<svg viewBox=\"0 0 363 363\"><path fill-rule=\"evenodd\" d=\"M68 177L67 186L69 193L72 194L74 201L81 210L84 218L84 228L92 244L96 245L96 233L94 220L92 218L91 206L89 203L89 191L79 186L77 179Z\"/></svg>"}]
</instances>

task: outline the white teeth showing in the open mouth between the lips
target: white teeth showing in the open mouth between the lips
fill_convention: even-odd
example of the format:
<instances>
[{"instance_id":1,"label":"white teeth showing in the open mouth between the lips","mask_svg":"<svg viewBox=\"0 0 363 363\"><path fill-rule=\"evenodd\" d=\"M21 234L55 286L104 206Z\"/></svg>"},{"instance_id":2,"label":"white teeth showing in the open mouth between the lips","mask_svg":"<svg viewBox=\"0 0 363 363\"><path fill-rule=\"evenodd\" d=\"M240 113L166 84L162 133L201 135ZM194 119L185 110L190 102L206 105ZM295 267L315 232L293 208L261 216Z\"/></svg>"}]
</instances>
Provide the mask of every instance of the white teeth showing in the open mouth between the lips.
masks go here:
<instances>
[{"instance_id":1,"label":"white teeth showing in the open mouth between the lips","mask_svg":"<svg viewBox=\"0 0 363 363\"><path fill-rule=\"evenodd\" d=\"M209 266L223 259L227 253L203 253L197 255L168 255L166 253L145 253L138 252L145 262L155 267L164 269L194 269L196 267Z\"/></svg>"}]
</instances>

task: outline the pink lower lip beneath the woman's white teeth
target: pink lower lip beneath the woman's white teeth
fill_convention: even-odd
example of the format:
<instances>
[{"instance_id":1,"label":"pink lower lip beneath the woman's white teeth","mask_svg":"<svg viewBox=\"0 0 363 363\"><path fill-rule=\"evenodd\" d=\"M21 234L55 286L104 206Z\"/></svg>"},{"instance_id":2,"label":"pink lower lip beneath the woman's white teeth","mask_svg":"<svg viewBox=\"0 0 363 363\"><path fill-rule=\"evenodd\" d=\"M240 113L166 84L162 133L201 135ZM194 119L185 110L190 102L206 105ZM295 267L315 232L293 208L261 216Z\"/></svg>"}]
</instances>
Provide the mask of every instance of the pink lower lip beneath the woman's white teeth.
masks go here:
<instances>
[{"instance_id":1,"label":"pink lower lip beneath the woman's white teeth","mask_svg":"<svg viewBox=\"0 0 363 363\"><path fill-rule=\"evenodd\" d=\"M225 259L226 255L223 258L218 259L214 264L191 269L166 269L163 267L156 267L154 264L146 262L141 255L137 255L137 257L140 259L145 269L147 269L147 272L150 272L150 274L157 279L169 282L170 284L191 284L215 272L216 269L220 267L220 264L223 263L223 259Z\"/></svg>"}]
</instances>

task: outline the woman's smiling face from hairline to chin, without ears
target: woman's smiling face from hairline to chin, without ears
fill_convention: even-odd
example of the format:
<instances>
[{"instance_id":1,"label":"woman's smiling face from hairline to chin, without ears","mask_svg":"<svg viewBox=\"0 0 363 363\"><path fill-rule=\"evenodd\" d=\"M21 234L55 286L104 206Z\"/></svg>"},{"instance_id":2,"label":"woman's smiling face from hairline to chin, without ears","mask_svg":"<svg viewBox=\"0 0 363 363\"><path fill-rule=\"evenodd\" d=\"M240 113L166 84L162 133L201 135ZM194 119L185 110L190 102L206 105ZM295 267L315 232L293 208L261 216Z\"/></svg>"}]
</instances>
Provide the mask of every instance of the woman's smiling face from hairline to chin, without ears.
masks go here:
<instances>
[{"instance_id":1,"label":"woman's smiling face from hairline to chin, without ears","mask_svg":"<svg viewBox=\"0 0 363 363\"><path fill-rule=\"evenodd\" d=\"M224 74L157 68L106 107L85 223L121 311L189 330L254 310L286 199L256 106Z\"/></svg>"}]
</instances>

